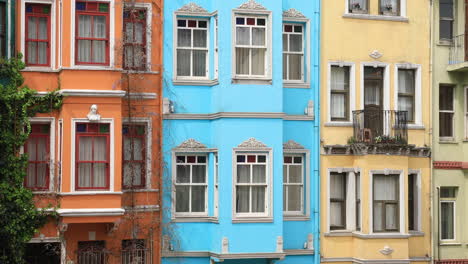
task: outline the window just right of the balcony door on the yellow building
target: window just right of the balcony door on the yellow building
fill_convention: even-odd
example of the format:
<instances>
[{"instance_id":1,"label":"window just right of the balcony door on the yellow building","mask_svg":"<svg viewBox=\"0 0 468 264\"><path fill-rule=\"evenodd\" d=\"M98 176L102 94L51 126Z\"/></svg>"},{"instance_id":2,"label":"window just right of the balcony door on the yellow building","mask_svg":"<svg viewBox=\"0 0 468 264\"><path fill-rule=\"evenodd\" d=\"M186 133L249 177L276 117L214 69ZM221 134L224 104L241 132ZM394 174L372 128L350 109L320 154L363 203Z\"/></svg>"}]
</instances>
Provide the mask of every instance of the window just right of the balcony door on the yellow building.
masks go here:
<instances>
[{"instance_id":1,"label":"window just right of the balcony door on the yellow building","mask_svg":"<svg viewBox=\"0 0 468 264\"><path fill-rule=\"evenodd\" d=\"M398 69L398 110L407 111L407 121L414 123L415 70Z\"/></svg>"}]
</instances>

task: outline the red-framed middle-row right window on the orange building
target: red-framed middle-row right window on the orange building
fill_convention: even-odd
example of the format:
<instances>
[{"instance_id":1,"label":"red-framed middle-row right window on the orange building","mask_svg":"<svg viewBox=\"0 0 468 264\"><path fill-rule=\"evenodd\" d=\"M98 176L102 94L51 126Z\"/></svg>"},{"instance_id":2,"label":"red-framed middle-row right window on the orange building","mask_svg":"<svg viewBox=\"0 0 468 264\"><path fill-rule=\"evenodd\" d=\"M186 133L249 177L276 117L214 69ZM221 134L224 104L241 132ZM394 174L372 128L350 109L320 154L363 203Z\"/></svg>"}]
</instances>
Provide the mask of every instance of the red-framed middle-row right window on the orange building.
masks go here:
<instances>
[{"instance_id":1,"label":"red-framed middle-row right window on the orange building","mask_svg":"<svg viewBox=\"0 0 468 264\"><path fill-rule=\"evenodd\" d=\"M144 188L146 176L146 126L126 124L123 138L123 186Z\"/></svg>"}]
</instances>

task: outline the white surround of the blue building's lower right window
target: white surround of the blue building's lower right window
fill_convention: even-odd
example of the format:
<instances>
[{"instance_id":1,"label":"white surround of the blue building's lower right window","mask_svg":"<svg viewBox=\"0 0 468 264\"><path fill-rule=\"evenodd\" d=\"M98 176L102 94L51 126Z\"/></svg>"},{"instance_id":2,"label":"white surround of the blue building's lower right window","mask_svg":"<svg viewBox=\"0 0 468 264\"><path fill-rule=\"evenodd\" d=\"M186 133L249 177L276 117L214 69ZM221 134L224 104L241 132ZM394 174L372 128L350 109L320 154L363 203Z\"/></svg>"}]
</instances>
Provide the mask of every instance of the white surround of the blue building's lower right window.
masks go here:
<instances>
[{"instance_id":1,"label":"white surround of the blue building's lower right window","mask_svg":"<svg viewBox=\"0 0 468 264\"><path fill-rule=\"evenodd\" d=\"M310 151L305 149L284 149L283 157L302 157L302 203L301 211L284 211L283 218L285 221L302 220L310 217ZM284 166L284 163L283 163ZM285 177L285 175L283 175ZM284 183L283 183L284 184ZM284 199L283 194L283 199Z\"/></svg>"}]
</instances>

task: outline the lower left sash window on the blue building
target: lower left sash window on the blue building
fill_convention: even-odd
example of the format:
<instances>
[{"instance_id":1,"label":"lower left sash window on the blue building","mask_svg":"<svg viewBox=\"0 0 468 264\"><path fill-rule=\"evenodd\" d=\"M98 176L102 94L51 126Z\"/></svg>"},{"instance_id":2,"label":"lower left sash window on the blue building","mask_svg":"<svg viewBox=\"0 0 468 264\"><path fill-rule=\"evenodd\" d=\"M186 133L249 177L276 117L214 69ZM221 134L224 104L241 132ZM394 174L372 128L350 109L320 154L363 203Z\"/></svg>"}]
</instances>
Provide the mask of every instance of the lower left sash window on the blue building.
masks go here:
<instances>
[{"instance_id":1,"label":"lower left sash window on the blue building","mask_svg":"<svg viewBox=\"0 0 468 264\"><path fill-rule=\"evenodd\" d=\"M207 213L207 164L206 155L176 155L176 214Z\"/></svg>"}]
</instances>

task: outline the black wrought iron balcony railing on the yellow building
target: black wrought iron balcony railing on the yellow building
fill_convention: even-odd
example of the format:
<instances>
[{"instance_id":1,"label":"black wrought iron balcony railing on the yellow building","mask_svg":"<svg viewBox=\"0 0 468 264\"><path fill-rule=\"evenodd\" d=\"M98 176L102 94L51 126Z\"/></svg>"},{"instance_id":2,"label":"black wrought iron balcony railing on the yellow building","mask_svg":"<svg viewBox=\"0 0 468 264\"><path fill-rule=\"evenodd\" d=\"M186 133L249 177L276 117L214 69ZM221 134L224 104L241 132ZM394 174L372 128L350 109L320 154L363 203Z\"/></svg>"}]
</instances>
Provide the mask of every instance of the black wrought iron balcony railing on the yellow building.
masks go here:
<instances>
[{"instance_id":1,"label":"black wrought iron balcony railing on the yellow building","mask_svg":"<svg viewBox=\"0 0 468 264\"><path fill-rule=\"evenodd\" d=\"M353 143L408 144L407 111L353 111Z\"/></svg>"}]
</instances>

